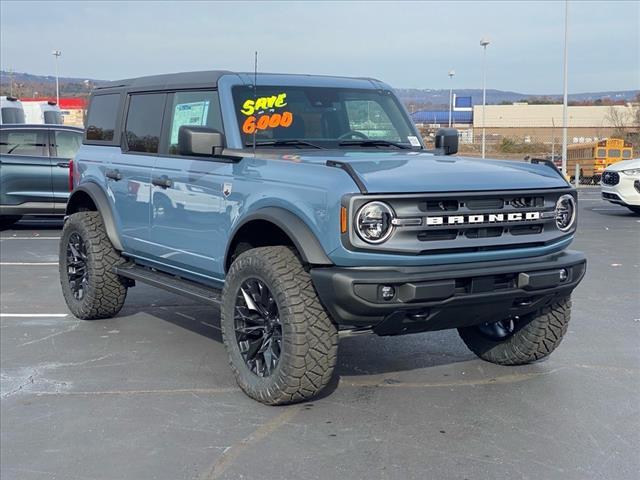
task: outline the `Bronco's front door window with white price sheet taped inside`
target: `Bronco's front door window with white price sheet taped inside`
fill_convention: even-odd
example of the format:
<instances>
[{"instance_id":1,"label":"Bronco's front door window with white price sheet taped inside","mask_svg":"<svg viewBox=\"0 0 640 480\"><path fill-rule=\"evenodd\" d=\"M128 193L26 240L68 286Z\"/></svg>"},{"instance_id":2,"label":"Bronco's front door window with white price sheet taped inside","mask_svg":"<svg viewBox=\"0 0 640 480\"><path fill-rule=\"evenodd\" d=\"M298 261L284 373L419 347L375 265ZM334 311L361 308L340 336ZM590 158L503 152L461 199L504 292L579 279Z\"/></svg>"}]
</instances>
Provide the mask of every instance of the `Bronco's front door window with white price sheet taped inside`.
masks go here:
<instances>
[{"instance_id":1,"label":"Bronco's front door window with white price sheet taped inside","mask_svg":"<svg viewBox=\"0 0 640 480\"><path fill-rule=\"evenodd\" d=\"M223 131L218 92L215 91L174 93L169 115L169 130L165 140L168 145L164 151L171 155L178 153L178 132L183 125L206 126Z\"/></svg>"}]
</instances>

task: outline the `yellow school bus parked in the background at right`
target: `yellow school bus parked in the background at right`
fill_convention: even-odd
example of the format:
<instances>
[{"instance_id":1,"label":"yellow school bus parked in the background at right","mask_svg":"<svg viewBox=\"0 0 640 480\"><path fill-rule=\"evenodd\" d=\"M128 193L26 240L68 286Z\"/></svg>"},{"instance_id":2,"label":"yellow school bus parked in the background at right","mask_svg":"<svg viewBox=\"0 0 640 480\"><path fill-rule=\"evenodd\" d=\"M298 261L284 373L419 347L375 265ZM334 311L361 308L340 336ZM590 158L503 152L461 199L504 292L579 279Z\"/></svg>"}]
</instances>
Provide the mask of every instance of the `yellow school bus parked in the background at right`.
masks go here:
<instances>
[{"instance_id":1,"label":"yellow school bus parked in the background at right","mask_svg":"<svg viewBox=\"0 0 640 480\"><path fill-rule=\"evenodd\" d=\"M580 177L599 181L602 172L612 163L633 158L629 142L619 138L607 138L599 142L577 143L567 146L567 175L573 177L576 164L580 165Z\"/></svg>"}]
</instances>

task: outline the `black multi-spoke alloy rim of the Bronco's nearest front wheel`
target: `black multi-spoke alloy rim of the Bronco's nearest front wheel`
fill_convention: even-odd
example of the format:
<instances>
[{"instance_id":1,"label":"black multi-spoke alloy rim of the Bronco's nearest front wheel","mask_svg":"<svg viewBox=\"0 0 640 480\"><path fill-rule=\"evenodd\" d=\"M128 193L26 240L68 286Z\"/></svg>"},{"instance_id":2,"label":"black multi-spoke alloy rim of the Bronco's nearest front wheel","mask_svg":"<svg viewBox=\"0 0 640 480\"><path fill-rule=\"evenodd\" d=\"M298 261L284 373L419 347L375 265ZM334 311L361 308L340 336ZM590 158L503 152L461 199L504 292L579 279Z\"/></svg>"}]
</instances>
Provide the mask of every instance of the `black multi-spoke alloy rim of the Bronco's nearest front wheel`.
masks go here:
<instances>
[{"instance_id":1,"label":"black multi-spoke alloy rim of the Bronco's nearest front wheel","mask_svg":"<svg viewBox=\"0 0 640 480\"><path fill-rule=\"evenodd\" d=\"M245 280L236 295L236 341L251 372L270 376L282 353L282 323L278 306L262 280Z\"/></svg>"}]
</instances>

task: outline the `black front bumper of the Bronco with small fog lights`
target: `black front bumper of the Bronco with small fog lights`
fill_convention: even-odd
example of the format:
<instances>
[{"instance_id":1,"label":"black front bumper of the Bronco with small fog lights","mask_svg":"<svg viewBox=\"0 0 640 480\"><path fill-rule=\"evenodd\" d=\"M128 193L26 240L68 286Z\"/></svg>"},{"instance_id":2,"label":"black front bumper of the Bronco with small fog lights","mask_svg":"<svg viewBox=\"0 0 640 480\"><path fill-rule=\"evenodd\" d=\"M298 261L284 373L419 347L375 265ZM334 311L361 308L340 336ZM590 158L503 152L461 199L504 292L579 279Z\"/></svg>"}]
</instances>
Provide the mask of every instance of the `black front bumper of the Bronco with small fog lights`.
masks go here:
<instances>
[{"instance_id":1,"label":"black front bumper of the Bronco with small fog lights","mask_svg":"<svg viewBox=\"0 0 640 480\"><path fill-rule=\"evenodd\" d=\"M584 254L567 250L472 264L315 268L311 277L340 326L399 335L526 315L569 295L585 271Z\"/></svg>"}]
</instances>

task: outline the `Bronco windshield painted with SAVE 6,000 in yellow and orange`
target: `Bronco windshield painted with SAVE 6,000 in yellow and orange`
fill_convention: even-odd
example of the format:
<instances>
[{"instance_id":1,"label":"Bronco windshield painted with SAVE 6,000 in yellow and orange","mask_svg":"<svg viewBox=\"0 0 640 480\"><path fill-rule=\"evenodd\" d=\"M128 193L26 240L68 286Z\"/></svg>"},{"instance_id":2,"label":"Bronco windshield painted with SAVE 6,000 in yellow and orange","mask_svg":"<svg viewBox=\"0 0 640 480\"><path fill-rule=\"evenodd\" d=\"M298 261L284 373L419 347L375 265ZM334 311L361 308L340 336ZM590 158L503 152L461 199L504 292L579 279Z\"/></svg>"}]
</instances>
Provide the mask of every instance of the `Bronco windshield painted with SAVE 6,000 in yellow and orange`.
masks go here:
<instances>
[{"instance_id":1,"label":"Bronco windshield painted with SAVE 6,000 in yellow and orange","mask_svg":"<svg viewBox=\"0 0 640 480\"><path fill-rule=\"evenodd\" d=\"M329 87L235 87L233 100L245 146L422 148L389 91ZM396 145L397 146L397 145Z\"/></svg>"}]
</instances>

